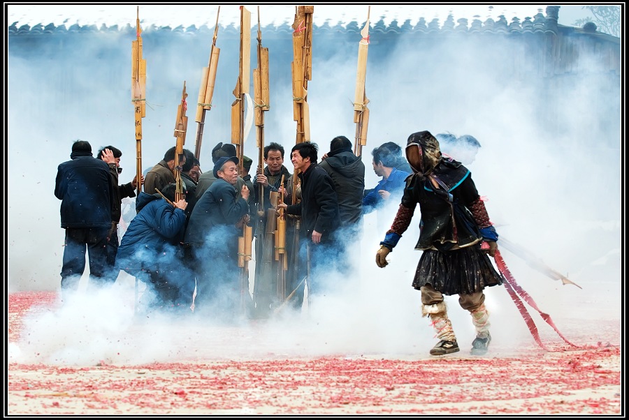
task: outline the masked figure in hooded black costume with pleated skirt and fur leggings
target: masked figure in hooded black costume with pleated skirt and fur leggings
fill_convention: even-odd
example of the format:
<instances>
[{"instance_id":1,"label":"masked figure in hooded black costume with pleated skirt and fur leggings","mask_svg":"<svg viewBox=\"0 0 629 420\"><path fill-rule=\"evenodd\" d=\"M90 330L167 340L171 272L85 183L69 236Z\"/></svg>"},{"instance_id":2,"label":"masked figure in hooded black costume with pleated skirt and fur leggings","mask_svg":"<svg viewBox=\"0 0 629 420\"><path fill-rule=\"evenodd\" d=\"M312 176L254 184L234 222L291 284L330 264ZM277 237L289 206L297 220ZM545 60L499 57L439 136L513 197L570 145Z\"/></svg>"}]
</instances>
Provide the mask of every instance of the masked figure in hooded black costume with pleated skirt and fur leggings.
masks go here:
<instances>
[{"instance_id":1,"label":"masked figure in hooded black costume with pleated skirt and fur leggings","mask_svg":"<svg viewBox=\"0 0 629 420\"><path fill-rule=\"evenodd\" d=\"M470 171L456 160L445 160L439 142L428 131L410 135L406 157L413 174L406 180L398 213L376 254L378 267L410 225L414 209L421 211L419 241L423 251L412 286L421 290L422 315L428 316L440 340L431 354L458 352L444 295L458 294L468 310L477 336L472 354L485 354L491 341L484 288L501 285L489 260L496 253L498 234L489 221Z\"/></svg>"}]
</instances>

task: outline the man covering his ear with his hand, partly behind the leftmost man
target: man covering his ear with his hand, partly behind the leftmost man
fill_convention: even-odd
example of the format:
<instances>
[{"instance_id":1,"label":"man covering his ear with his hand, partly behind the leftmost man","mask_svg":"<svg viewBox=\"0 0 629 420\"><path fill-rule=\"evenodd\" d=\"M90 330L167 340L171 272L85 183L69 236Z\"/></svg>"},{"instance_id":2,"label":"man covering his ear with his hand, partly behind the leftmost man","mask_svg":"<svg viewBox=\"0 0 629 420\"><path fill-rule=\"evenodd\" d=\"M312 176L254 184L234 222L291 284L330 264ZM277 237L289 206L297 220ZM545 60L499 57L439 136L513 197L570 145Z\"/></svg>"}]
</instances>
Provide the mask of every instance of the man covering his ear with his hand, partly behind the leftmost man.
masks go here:
<instances>
[{"instance_id":1,"label":"man covering his ear with his hand, partly behind the leftmost man","mask_svg":"<svg viewBox=\"0 0 629 420\"><path fill-rule=\"evenodd\" d=\"M99 153L96 154L96 157L105 160L106 149L112 151L115 158L114 163L108 163L109 173L112 177L114 188L111 210L111 229L107 236L107 265L109 269L106 271L106 277L108 278L108 281L110 281L111 283L115 283L118 277L118 273L120 272L120 269L116 269L114 266L116 264L116 255L118 252L118 246L120 244L120 241L118 239L118 223L120 223L120 217L122 216L122 199L126 197L132 198L136 196L138 179L136 175L135 177L133 177L133 180L131 182L118 185L118 175L122 173L122 167L120 167L120 158L122 157L122 151L120 151L120 149L117 149L117 147L106 146L99 150ZM140 185L144 183L144 177L141 178L142 179Z\"/></svg>"}]
</instances>

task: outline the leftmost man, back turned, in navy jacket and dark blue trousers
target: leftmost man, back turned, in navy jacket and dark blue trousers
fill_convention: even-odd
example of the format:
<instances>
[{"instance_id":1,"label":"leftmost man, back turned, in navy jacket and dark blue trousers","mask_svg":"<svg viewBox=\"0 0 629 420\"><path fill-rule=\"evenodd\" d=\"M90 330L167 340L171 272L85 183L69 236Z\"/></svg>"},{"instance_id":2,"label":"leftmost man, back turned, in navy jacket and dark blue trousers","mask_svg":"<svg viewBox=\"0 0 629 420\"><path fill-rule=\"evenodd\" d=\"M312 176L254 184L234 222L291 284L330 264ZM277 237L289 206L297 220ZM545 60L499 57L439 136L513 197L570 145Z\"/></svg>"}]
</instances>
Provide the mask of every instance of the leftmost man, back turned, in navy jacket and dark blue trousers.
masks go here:
<instances>
[{"instance_id":1,"label":"leftmost man, back turned, in navy jacket and dark blue trousers","mask_svg":"<svg viewBox=\"0 0 629 420\"><path fill-rule=\"evenodd\" d=\"M72 144L71 160L57 167L55 197L62 200L61 227L66 230L62 299L78 288L85 271L85 253L89 259L90 284L106 283L107 234L111 229L113 189L108 163L115 163L106 149L103 159L92 156L92 145L83 140ZM117 175L117 174L116 174Z\"/></svg>"}]
</instances>

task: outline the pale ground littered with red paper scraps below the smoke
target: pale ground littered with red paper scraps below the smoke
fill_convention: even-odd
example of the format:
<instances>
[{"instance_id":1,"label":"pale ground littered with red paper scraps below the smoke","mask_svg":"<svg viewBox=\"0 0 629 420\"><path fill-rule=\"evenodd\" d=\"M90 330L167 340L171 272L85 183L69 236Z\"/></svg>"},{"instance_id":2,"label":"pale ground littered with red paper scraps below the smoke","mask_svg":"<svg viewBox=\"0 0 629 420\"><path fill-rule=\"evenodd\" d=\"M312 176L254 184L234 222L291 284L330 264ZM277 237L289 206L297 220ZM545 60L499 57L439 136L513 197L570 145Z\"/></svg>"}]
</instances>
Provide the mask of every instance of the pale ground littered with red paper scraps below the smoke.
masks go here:
<instances>
[{"instance_id":1,"label":"pale ground littered with red paper scraps below the smoke","mask_svg":"<svg viewBox=\"0 0 629 420\"><path fill-rule=\"evenodd\" d=\"M50 292L9 295L9 341ZM461 352L463 353L463 352ZM454 356L454 357L452 357ZM530 357L10 363L9 414L620 414L620 347Z\"/></svg>"}]
</instances>

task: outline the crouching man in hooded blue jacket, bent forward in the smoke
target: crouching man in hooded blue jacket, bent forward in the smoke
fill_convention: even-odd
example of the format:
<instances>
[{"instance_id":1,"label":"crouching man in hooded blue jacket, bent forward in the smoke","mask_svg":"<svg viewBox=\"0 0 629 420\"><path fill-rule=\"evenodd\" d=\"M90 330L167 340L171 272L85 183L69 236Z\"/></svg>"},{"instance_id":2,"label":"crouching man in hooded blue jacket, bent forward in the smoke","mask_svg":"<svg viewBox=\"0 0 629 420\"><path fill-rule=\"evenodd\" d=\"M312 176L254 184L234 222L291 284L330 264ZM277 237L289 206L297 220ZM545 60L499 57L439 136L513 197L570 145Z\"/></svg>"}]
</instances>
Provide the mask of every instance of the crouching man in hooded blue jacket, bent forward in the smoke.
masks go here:
<instances>
[{"instance_id":1,"label":"crouching man in hooded blue jacket, bent forward in the smoke","mask_svg":"<svg viewBox=\"0 0 629 420\"><path fill-rule=\"evenodd\" d=\"M149 308L188 308L194 282L180 258L179 241L186 221L185 199L174 202L175 184L159 193L141 192L136 200L136 217L122 235L116 267L143 280L147 285Z\"/></svg>"}]
</instances>

